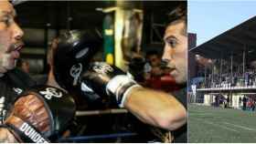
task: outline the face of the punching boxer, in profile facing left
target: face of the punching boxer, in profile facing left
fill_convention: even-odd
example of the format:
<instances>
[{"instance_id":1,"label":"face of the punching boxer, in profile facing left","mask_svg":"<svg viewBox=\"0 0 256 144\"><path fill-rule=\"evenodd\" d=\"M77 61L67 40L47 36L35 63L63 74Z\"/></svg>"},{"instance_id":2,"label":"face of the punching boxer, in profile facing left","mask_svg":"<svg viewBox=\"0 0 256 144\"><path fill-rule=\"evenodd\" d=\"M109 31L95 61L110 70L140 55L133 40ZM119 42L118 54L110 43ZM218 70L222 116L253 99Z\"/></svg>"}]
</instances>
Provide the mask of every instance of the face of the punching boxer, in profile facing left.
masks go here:
<instances>
[{"instance_id":1,"label":"face of the punching boxer, in profile facing left","mask_svg":"<svg viewBox=\"0 0 256 144\"><path fill-rule=\"evenodd\" d=\"M185 26L184 22L167 26L164 36L165 50L162 59L168 63L170 75L175 77L177 84L187 82L187 34L183 34Z\"/></svg>"}]
</instances>

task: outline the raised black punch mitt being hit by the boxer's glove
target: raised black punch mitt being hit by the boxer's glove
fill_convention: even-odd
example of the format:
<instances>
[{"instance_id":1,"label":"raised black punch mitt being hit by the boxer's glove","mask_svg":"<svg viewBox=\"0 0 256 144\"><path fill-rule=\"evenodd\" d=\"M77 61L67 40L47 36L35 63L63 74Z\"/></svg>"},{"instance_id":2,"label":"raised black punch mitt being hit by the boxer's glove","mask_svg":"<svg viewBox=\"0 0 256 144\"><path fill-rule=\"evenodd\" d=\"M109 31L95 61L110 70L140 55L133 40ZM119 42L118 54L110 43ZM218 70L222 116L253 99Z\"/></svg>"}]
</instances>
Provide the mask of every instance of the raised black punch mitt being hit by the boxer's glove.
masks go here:
<instances>
[{"instance_id":1,"label":"raised black punch mitt being hit by the boxer's glove","mask_svg":"<svg viewBox=\"0 0 256 144\"><path fill-rule=\"evenodd\" d=\"M96 31L72 30L59 36L59 45L53 52L53 72L60 87L74 89L80 80L80 72L99 51L101 36Z\"/></svg>"}]
</instances>

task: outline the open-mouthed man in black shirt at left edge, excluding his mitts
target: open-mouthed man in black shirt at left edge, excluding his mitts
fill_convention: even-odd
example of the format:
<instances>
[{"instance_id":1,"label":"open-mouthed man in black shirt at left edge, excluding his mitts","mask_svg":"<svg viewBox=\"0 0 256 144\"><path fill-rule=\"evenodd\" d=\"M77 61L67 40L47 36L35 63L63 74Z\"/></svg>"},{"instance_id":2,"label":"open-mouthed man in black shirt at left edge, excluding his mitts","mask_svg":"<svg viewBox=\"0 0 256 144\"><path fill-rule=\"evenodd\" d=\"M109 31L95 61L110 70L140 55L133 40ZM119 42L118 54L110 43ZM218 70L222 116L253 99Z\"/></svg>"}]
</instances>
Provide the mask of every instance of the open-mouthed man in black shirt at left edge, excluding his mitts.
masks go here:
<instances>
[{"instance_id":1,"label":"open-mouthed man in black shirt at left edge, excluding his mitts","mask_svg":"<svg viewBox=\"0 0 256 144\"><path fill-rule=\"evenodd\" d=\"M23 47L23 31L15 22L16 11L7 0L0 1L0 121L5 118L12 101L34 82L15 69Z\"/></svg>"}]
</instances>

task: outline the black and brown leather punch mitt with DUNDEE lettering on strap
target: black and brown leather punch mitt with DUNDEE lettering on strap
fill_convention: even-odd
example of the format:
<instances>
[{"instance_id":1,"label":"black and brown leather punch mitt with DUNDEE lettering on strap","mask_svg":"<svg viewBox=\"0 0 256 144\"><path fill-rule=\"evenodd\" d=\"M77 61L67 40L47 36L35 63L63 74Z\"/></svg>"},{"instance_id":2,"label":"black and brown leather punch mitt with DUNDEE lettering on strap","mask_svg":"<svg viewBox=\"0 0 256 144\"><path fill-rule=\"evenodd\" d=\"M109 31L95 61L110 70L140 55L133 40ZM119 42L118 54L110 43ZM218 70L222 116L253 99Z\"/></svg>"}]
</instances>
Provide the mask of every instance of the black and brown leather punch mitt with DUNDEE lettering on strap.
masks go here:
<instances>
[{"instance_id":1,"label":"black and brown leather punch mitt with DUNDEE lettering on strap","mask_svg":"<svg viewBox=\"0 0 256 144\"><path fill-rule=\"evenodd\" d=\"M72 97L56 87L34 87L16 99L5 128L19 142L49 142L64 130L75 114Z\"/></svg>"}]
</instances>

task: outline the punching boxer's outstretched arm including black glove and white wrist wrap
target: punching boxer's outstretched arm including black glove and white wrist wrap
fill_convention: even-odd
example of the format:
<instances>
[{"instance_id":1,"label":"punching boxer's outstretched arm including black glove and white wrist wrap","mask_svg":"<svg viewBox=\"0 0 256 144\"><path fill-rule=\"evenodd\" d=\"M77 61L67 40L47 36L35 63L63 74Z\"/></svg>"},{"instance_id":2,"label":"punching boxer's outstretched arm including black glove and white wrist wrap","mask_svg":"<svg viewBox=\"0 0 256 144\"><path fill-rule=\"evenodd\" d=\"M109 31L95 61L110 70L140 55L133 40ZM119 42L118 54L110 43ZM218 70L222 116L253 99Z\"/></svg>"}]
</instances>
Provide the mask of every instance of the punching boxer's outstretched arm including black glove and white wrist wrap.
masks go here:
<instances>
[{"instance_id":1,"label":"punching boxer's outstretched arm including black glove and white wrist wrap","mask_svg":"<svg viewBox=\"0 0 256 144\"><path fill-rule=\"evenodd\" d=\"M187 110L176 98L141 87L118 67L103 62L91 63L81 75L81 90L114 97L120 108L162 129L178 129L187 121Z\"/></svg>"}]
</instances>

